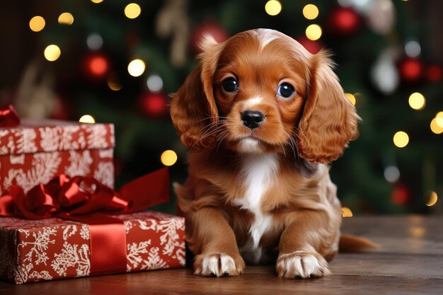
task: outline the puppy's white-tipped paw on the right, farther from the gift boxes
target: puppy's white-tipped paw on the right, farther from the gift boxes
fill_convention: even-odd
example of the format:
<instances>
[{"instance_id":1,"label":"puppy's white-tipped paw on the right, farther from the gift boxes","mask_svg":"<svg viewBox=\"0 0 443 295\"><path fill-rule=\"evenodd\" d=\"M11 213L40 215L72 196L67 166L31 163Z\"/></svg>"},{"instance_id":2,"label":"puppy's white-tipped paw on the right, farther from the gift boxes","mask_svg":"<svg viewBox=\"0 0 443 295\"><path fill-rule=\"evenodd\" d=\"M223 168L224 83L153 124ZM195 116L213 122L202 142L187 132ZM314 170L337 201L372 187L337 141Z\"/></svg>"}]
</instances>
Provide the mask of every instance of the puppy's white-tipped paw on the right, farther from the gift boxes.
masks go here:
<instances>
[{"instance_id":1,"label":"puppy's white-tipped paw on the right, farther from the gift boxes","mask_svg":"<svg viewBox=\"0 0 443 295\"><path fill-rule=\"evenodd\" d=\"M280 254L277 259L278 277L310 279L330 274L328 262L315 252L295 251Z\"/></svg>"}]
</instances>

